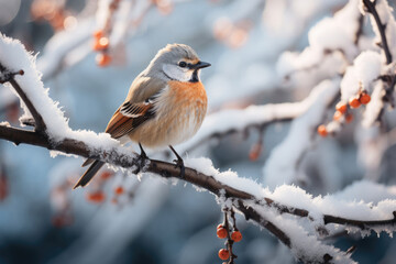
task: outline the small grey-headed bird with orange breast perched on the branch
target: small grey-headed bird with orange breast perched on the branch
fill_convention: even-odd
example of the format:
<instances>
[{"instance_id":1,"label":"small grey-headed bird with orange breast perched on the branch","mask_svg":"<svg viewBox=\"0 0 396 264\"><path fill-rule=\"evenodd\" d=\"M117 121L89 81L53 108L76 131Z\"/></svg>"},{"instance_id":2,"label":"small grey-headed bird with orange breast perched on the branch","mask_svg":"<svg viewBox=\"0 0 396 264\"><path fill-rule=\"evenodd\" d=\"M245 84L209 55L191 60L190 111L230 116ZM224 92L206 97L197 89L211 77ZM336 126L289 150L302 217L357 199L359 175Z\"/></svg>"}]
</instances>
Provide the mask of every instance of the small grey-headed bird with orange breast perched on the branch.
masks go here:
<instances>
[{"instance_id":1,"label":"small grey-headed bird with orange breast perched on the branch","mask_svg":"<svg viewBox=\"0 0 396 264\"><path fill-rule=\"evenodd\" d=\"M110 119L106 132L121 144L139 143L141 158L147 158L143 146L169 146L183 176L183 160L172 145L191 138L204 121L208 98L199 76L200 69L209 66L199 61L188 45L168 44L160 50L133 80L127 99ZM105 165L88 158L82 166L89 164L74 189L86 186Z\"/></svg>"}]
</instances>

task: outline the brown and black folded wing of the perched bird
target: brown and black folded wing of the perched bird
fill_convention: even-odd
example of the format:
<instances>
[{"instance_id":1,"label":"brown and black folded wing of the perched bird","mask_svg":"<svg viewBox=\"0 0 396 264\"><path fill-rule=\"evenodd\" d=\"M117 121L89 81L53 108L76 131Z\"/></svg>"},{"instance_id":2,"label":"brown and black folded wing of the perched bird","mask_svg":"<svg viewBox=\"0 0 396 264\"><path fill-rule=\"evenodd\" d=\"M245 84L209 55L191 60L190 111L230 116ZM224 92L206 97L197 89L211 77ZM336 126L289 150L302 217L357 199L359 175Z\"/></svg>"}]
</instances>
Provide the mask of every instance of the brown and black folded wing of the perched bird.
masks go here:
<instances>
[{"instance_id":1,"label":"brown and black folded wing of the perched bird","mask_svg":"<svg viewBox=\"0 0 396 264\"><path fill-rule=\"evenodd\" d=\"M106 129L106 132L114 139L129 134L142 123L155 117L155 99L161 95L166 82L153 78L142 80L132 84L127 100L114 112Z\"/></svg>"}]
</instances>

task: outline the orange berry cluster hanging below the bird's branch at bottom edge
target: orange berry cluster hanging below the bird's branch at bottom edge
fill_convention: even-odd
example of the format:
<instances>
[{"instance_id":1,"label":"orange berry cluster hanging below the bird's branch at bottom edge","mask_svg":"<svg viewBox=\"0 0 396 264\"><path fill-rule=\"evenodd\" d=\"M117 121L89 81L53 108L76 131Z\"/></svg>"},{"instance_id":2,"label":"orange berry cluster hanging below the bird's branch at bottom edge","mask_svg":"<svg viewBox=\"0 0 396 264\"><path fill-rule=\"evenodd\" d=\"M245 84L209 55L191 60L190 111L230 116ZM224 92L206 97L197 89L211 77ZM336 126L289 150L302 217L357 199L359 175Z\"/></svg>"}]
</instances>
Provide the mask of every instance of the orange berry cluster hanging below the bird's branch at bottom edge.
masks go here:
<instances>
[{"instance_id":1,"label":"orange berry cluster hanging below the bird's branch at bottom edge","mask_svg":"<svg viewBox=\"0 0 396 264\"><path fill-rule=\"evenodd\" d=\"M228 215L231 215L233 220L233 226L228 220ZM224 221L217 227L217 237L219 239L227 239L226 249L219 250L219 257L222 261L229 260L228 263L223 262L223 264L232 264L237 255L232 253L232 245L234 242L240 242L242 240L242 233L238 230L235 223L235 216L232 209L224 210Z\"/></svg>"}]
</instances>

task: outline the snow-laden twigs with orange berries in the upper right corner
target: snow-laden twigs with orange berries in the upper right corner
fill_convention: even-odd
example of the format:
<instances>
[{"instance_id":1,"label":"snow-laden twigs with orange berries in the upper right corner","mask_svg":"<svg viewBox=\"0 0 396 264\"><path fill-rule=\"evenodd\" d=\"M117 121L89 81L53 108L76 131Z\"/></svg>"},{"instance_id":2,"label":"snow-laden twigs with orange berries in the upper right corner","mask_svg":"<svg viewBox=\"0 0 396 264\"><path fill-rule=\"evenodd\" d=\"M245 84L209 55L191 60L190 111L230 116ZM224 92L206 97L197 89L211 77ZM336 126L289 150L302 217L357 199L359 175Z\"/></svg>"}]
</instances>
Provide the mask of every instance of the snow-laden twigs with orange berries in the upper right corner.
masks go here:
<instances>
[{"instance_id":1,"label":"snow-laden twigs with orange berries in the upper right corner","mask_svg":"<svg viewBox=\"0 0 396 264\"><path fill-rule=\"evenodd\" d=\"M374 37L362 31L362 15L370 15ZM386 0L351 0L309 31L309 46L301 53L280 56L277 70L296 87L314 86L341 74L341 100L333 120L318 131L321 135L340 132L352 121L353 109L361 106L366 105L361 120L365 128L382 123L386 107L395 107L395 32L396 22Z\"/></svg>"}]
</instances>

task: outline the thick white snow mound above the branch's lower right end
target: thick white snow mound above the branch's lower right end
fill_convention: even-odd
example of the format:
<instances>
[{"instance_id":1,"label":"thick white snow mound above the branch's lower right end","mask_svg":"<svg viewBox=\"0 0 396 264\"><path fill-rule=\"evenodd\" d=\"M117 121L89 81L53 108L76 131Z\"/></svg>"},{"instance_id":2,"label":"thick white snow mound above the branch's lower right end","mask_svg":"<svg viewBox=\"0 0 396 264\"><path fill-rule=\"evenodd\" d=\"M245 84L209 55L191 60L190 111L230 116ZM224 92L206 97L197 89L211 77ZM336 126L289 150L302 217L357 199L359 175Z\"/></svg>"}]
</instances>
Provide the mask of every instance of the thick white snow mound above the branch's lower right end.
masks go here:
<instances>
[{"instance_id":1,"label":"thick white snow mound above the branch's lower right end","mask_svg":"<svg viewBox=\"0 0 396 264\"><path fill-rule=\"evenodd\" d=\"M331 215L363 221L393 219L396 210L396 187L367 180L324 197L312 197L296 186L283 185L264 195L282 205L308 210L310 216ZM320 219L317 219L320 220ZM378 230L385 230L385 227Z\"/></svg>"}]
</instances>

